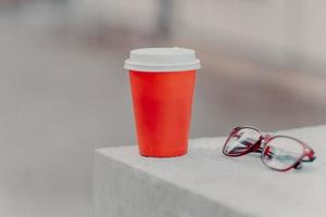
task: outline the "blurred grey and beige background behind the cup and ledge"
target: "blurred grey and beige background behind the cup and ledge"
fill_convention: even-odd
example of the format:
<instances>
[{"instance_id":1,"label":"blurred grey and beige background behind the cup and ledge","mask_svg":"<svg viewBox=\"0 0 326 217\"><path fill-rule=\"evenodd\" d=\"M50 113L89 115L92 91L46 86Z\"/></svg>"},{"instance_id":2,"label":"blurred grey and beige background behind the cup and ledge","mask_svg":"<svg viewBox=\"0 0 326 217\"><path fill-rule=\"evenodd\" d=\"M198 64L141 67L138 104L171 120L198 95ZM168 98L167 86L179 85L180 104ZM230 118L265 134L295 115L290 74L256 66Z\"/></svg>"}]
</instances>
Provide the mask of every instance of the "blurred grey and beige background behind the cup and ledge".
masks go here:
<instances>
[{"instance_id":1,"label":"blurred grey and beige background behind the cup and ledge","mask_svg":"<svg viewBox=\"0 0 326 217\"><path fill-rule=\"evenodd\" d=\"M0 216L90 217L92 152L136 143L130 49L202 62L191 138L326 123L326 1L0 0Z\"/></svg>"}]
</instances>

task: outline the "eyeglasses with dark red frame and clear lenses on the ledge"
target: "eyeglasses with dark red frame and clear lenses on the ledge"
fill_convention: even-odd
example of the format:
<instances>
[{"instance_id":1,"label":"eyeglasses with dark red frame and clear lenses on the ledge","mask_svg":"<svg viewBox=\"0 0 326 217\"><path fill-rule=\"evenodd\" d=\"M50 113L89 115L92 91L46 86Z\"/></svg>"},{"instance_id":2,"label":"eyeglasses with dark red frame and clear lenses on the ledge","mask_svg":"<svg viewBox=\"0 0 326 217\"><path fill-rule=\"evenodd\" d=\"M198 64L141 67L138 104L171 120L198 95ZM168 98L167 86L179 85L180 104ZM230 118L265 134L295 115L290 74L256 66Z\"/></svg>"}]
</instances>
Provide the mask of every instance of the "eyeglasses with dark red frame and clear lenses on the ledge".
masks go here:
<instances>
[{"instance_id":1,"label":"eyeglasses with dark red frame and clear lenses on the ledge","mask_svg":"<svg viewBox=\"0 0 326 217\"><path fill-rule=\"evenodd\" d=\"M261 153L262 162L278 171L300 169L302 162L313 162L316 158L314 151L296 138L263 136L259 129L250 126L234 128L223 146L223 154L235 157L251 152Z\"/></svg>"}]
</instances>

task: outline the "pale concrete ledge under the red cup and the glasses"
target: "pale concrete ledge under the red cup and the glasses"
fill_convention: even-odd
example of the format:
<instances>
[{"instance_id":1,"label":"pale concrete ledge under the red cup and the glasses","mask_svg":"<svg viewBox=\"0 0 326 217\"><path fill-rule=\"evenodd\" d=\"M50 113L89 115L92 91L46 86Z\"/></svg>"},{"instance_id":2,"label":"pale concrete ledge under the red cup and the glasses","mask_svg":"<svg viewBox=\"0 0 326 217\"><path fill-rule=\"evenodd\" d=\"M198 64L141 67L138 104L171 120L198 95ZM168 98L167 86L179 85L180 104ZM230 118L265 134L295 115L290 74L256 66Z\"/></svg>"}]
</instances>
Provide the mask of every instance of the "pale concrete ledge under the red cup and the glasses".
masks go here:
<instances>
[{"instance_id":1,"label":"pale concrete ledge under the red cup and the glasses","mask_svg":"<svg viewBox=\"0 0 326 217\"><path fill-rule=\"evenodd\" d=\"M96 151L96 217L325 217L326 126L281 131L317 159L278 173L255 154L222 154L224 138L190 140L188 155L147 158L136 145Z\"/></svg>"}]
</instances>

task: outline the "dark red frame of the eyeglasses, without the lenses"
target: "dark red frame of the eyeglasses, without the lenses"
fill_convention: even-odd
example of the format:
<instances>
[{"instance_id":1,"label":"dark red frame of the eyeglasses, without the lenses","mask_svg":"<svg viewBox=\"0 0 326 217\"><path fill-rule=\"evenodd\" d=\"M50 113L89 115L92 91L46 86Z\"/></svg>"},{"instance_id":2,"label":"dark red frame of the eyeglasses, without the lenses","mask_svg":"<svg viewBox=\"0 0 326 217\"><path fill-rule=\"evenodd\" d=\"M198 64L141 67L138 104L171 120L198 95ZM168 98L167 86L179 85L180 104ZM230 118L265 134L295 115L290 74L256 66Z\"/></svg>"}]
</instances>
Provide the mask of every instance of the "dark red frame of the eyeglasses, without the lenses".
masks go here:
<instances>
[{"instance_id":1,"label":"dark red frame of the eyeglasses, without the lenses","mask_svg":"<svg viewBox=\"0 0 326 217\"><path fill-rule=\"evenodd\" d=\"M260 133L259 140L258 140L255 143L249 145L248 149L247 149L246 151L240 152L239 154L228 154L228 153L226 153L226 152L225 152L225 150L226 150L225 148L226 148L226 144L227 144L227 143L229 142L229 140L231 139L231 137L233 137L236 132L238 132L239 130L246 129L246 128L247 128L247 129L248 129L248 128L249 128L249 129L253 129L253 130L255 130L256 132L259 132L259 133ZM277 169L277 168L274 168L274 167L267 165L267 164L264 162L264 159L263 159L263 153L264 153L264 151L265 151L266 144L267 144L269 141L272 141L273 139L276 139L276 138L288 138L288 139L292 139L292 140L297 141L298 144L302 145L302 148L303 148L302 155L301 155L300 157L298 157L298 161L297 161L293 165L291 165L291 166L289 166L289 167L287 167L287 168L285 168L285 169ZM262 145L262 146L261 146L261 145ZM258 128L252 127L252 126L239 126L239 127L234 128L234 129L230 131L230 133L229 133L227 140L226 140L225 143L224 143L224 146L223 146L223 154L226 155L226 156L237 157L237 156L243 156L243 155L246 155L246 154L248 154L248 153L251 153L251 152L261 153L261 159L262 159L263 164L266 165L267 167L274 169L274 170L277 170L277 171L287 171L287 170L290 170L291 168L293 168L293 169L300 169L301 166L302 166L302 164L301 164L302 162L313 162L313 161L316 158L315 152L313 151L313 149L311 149L306 143L302 142L301 140L299 140L299 139L297 139L297 138L289 137L289 136L278 136L278 135L273 136L273 135L268 135L268 133L265 135L265 136L263 136L262 132L261 132L261 130L259 130ZM308 157L308 159L303 159L304 157Z\"/></svg>"}]
</instances>

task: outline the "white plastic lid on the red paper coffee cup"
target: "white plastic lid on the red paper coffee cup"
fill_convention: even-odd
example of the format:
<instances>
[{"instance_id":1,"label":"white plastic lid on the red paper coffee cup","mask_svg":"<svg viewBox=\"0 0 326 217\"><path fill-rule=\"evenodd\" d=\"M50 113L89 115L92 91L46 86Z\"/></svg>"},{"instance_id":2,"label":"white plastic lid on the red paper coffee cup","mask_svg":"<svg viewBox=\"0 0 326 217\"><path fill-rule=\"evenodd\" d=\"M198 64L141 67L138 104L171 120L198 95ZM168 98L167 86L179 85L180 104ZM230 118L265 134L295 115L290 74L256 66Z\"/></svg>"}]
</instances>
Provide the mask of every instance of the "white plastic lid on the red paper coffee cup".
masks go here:
<instances>
[{"instance_id":1,"label":"white plastic lid on the red paper coffee cup","mask_svg":"<svg viewBox=\"0 0 326 217\"><path fill-rule=\"evenodd\" d=\"M125 68L140 72L176 72L200 68L193 50L186 48L143 48L130 51Z\"/></svg>"}]
</instances>

